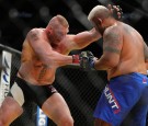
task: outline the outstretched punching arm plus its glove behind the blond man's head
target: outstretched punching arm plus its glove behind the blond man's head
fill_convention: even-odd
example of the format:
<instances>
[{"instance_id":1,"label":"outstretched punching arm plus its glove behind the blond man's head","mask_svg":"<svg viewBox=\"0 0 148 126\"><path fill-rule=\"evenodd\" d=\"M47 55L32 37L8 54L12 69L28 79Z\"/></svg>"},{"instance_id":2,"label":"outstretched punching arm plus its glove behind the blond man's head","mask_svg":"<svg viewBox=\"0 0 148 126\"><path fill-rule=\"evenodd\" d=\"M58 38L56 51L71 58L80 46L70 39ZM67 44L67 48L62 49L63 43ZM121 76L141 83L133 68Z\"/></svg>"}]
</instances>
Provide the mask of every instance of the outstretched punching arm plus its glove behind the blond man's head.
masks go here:
<instances>
[{"instance_id":1,"label":"outstretched punching arm plus its glove behind the blond man's head","mask_svg":"<svg viewBox=\"0 0 148 126\"><path fill-rule=\"evenodd\" d=\"M116 20L119 20L122 18L123 12L118 5L109 4L109 10L113 14L113 16L116 18ZM67 44L69 50L84 48L92 42L95 42L102 37L102 35L99 32L96 32L95 28L69 36L71 42Z\"/></svg>"}]
</instances>

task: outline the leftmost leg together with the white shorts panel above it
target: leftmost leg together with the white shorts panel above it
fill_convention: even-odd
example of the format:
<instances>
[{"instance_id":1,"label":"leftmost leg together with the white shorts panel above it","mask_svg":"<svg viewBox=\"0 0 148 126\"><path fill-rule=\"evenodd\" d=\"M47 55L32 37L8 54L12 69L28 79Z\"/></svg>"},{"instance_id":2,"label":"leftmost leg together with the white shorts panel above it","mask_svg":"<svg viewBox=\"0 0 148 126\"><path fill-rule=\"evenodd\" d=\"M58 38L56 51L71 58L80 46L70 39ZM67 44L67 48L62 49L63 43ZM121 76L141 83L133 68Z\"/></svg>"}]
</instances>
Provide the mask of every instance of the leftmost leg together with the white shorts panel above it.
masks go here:
<instances>
[{"instance_id":1,"label":"leftmost leg together with the white shorts panel above it","mask_svg":"<svg viewBox=\"0 0 148 126\"><path fill-rule=\"evenodd\" d=\"M0 126L9 126L22 113L24 95L22 89L14 82L8 96L0 107Z\"/></svg>"}]
</instances>

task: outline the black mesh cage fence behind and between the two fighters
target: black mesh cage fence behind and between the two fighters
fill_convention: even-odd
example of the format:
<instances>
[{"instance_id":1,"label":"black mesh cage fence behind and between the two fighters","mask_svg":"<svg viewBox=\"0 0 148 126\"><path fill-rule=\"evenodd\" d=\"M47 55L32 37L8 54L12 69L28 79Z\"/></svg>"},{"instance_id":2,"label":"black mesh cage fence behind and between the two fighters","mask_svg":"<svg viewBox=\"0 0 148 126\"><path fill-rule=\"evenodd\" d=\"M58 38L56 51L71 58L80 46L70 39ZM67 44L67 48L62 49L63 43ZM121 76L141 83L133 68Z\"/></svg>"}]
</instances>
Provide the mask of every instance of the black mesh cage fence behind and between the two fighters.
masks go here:
<instances>
[{"instance_id":1,"label":"black mesh cage fence behind and between the two fighters","mask_svg":"<svg viewBox=\"0 0 148 126\"><path fill-rule=\"evenodd\" d=\"M12 87L20 67L21 53L0 45L1 59L2 51L12 55L10 75L10 87ZM0 65L2 66L2 62ZM2 67L0 68L2 71ZM67 66L57 69L56 80L53 84L66 100L75 119L75 126L93 126L93 110L106 83L105 71L84 71L78 67ZM39 126L37 125L37 105L29 101L23 108L24 113L11 126ZM48 118L47 126L56 125ZM122 126L128 126L128 121Z\"/></svg>"}]
</instances>

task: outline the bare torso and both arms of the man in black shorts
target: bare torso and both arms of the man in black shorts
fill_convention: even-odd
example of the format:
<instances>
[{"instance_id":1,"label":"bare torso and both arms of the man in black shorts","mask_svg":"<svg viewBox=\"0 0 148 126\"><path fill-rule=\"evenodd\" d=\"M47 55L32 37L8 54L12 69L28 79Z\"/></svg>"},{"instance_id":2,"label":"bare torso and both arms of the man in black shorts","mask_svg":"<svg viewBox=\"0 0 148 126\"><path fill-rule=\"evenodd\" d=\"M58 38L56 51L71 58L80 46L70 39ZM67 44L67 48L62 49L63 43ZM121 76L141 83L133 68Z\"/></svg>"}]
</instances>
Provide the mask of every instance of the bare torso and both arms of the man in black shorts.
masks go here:
<instances>
[{"instance_id":1,"label":"bare torso and both arms of the man in black shorts","mask_svg":"<svg viewBox=\"0 0 148 126\"><path fill-rule=\"evenodd\" d=\"M44 28L35 28L27 34L23 43L21 68L18 75L38 85L53 83L56 69L59 66L72 64L71 56L65 56L70 50L83 48L101 37L95 30L91 30L77 35L65 35L61 42L52 45L46 32Z\"/></svg>"}]
</instances>

